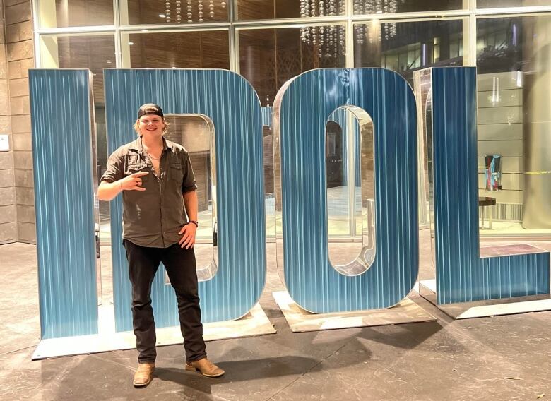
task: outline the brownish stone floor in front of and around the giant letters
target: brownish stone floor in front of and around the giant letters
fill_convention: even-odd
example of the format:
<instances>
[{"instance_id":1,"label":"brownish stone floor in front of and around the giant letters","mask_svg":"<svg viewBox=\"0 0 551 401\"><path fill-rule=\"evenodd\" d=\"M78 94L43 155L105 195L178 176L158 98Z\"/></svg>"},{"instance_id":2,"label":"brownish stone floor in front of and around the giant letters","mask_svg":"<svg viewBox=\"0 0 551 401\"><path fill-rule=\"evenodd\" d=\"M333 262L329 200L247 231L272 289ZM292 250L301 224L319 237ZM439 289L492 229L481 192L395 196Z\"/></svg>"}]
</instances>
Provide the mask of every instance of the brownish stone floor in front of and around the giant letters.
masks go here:
<instances>
[{"instance_id":1,"label":"brownish stone floor in front of and around the giant letters","mask_svg":"<svg viewBox=\"0 0 551 401\"><path fill-rule=\"evenodd\" d=\"M261 306L278 333L209 342L222 378L184 371L177 345L159 347L143 389L131 385L134 350L31 361L40 333L35 254L28 244L0 246L0 400L551 399L551 311L453 321L417 297L437 322L291 333L271 297L283 289L272 247ZM421 256L420 277L432 278L429 245ZM103 247L102 272L109 301Z\"/></svg>"}]
</instances>

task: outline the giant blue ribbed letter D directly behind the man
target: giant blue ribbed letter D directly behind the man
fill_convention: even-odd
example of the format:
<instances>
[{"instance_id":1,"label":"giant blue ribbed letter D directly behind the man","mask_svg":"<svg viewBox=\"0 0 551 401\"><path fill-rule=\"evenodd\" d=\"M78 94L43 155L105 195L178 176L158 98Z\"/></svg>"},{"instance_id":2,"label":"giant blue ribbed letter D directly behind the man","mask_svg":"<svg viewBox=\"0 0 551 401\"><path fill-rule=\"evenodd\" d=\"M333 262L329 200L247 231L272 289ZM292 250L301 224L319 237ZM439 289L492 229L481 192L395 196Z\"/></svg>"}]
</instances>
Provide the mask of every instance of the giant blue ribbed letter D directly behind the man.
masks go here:
<instances>
[{"instance_id":1,"label":"giant blue ribbed letter D directly behind the man","mask_svg":"<svg viewBox=\"0 0 551 401\"><path fill-rule=\"evenodd\" d=\"M107 149L136 138L129 129L141 104L162 104L165 114L201 114L215 136L215 275L199 283L203 322L244 316L266 282L262 121L259 97L242 76L226 70L105 70ZM112 202L111 232L115 322L132 330L131 288L120 243L122 202ZM161 269L164 270L164 269ZM164 272L162 272L164 273ZM158 327L179 325L174 291L163 274L153 282Z\"/></svg>"}]
</instances>

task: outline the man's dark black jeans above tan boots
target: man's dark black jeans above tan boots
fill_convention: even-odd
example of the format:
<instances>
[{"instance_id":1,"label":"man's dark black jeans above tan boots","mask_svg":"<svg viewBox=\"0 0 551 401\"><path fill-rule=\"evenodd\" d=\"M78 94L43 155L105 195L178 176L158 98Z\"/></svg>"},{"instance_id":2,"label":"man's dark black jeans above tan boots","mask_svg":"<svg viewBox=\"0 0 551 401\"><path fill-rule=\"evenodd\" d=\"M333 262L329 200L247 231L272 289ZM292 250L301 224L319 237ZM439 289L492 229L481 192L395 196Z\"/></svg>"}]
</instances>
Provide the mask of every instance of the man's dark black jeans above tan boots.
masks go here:
<instances>
[{"instance_id":1,"label":"man's dark black jeans above tan boots","mask_svg":"<svg viewBox=\"0 0 551 401\"><path fill-rule=\"evenodd\" d=\"M154 362L157 357L151 284L160 262L165 265L170 284L176 292L186 361L197 361L206 357L194 250L182 249L178 244L168 248L148 248L133 244L127 239L124 239L123 244L132 284L132 317L136 348L140 353L138 362Z\"/></svg>"}]
</instances>

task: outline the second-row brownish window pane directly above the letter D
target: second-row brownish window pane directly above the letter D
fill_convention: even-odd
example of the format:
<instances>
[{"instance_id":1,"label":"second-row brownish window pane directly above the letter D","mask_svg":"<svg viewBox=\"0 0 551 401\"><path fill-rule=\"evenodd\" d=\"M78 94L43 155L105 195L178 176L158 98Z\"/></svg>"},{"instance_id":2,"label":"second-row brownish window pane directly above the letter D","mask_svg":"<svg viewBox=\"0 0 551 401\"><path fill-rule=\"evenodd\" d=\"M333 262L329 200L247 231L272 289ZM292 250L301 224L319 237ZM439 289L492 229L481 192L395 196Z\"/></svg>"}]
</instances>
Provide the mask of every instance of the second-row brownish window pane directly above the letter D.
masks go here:
<instances>
[{"instance_id":1,"label":"second-row brownish window pane directly above the letter D","mask_svg":"<svg viewBox=\"0 0 551 401\"><path fill-rule=\"evenodd\" d=\"M123 66L230 68L227 30L122 34Z\"/></svg>"}]
</instances>

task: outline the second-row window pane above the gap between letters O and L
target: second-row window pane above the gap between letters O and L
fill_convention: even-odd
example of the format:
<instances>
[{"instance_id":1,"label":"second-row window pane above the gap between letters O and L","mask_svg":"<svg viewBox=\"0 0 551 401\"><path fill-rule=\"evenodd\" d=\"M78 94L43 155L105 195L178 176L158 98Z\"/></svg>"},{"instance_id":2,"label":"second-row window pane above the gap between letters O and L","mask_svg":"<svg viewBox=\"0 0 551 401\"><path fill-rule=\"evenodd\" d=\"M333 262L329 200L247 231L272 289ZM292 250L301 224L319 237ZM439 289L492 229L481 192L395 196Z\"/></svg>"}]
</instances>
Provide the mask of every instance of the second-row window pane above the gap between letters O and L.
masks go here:
<instances>
[{"instance_id":1,"label":"second-row window pane above the gap between letters O and L","mask_svg":"<svg viewBox=\"0 0 551 401\"><path fill-rule=\"evenodd\" d=\"M354 66L383 67L413 82L413 71L463 65L463 20L354 25Z\"/></svg>"}]
</instances>

